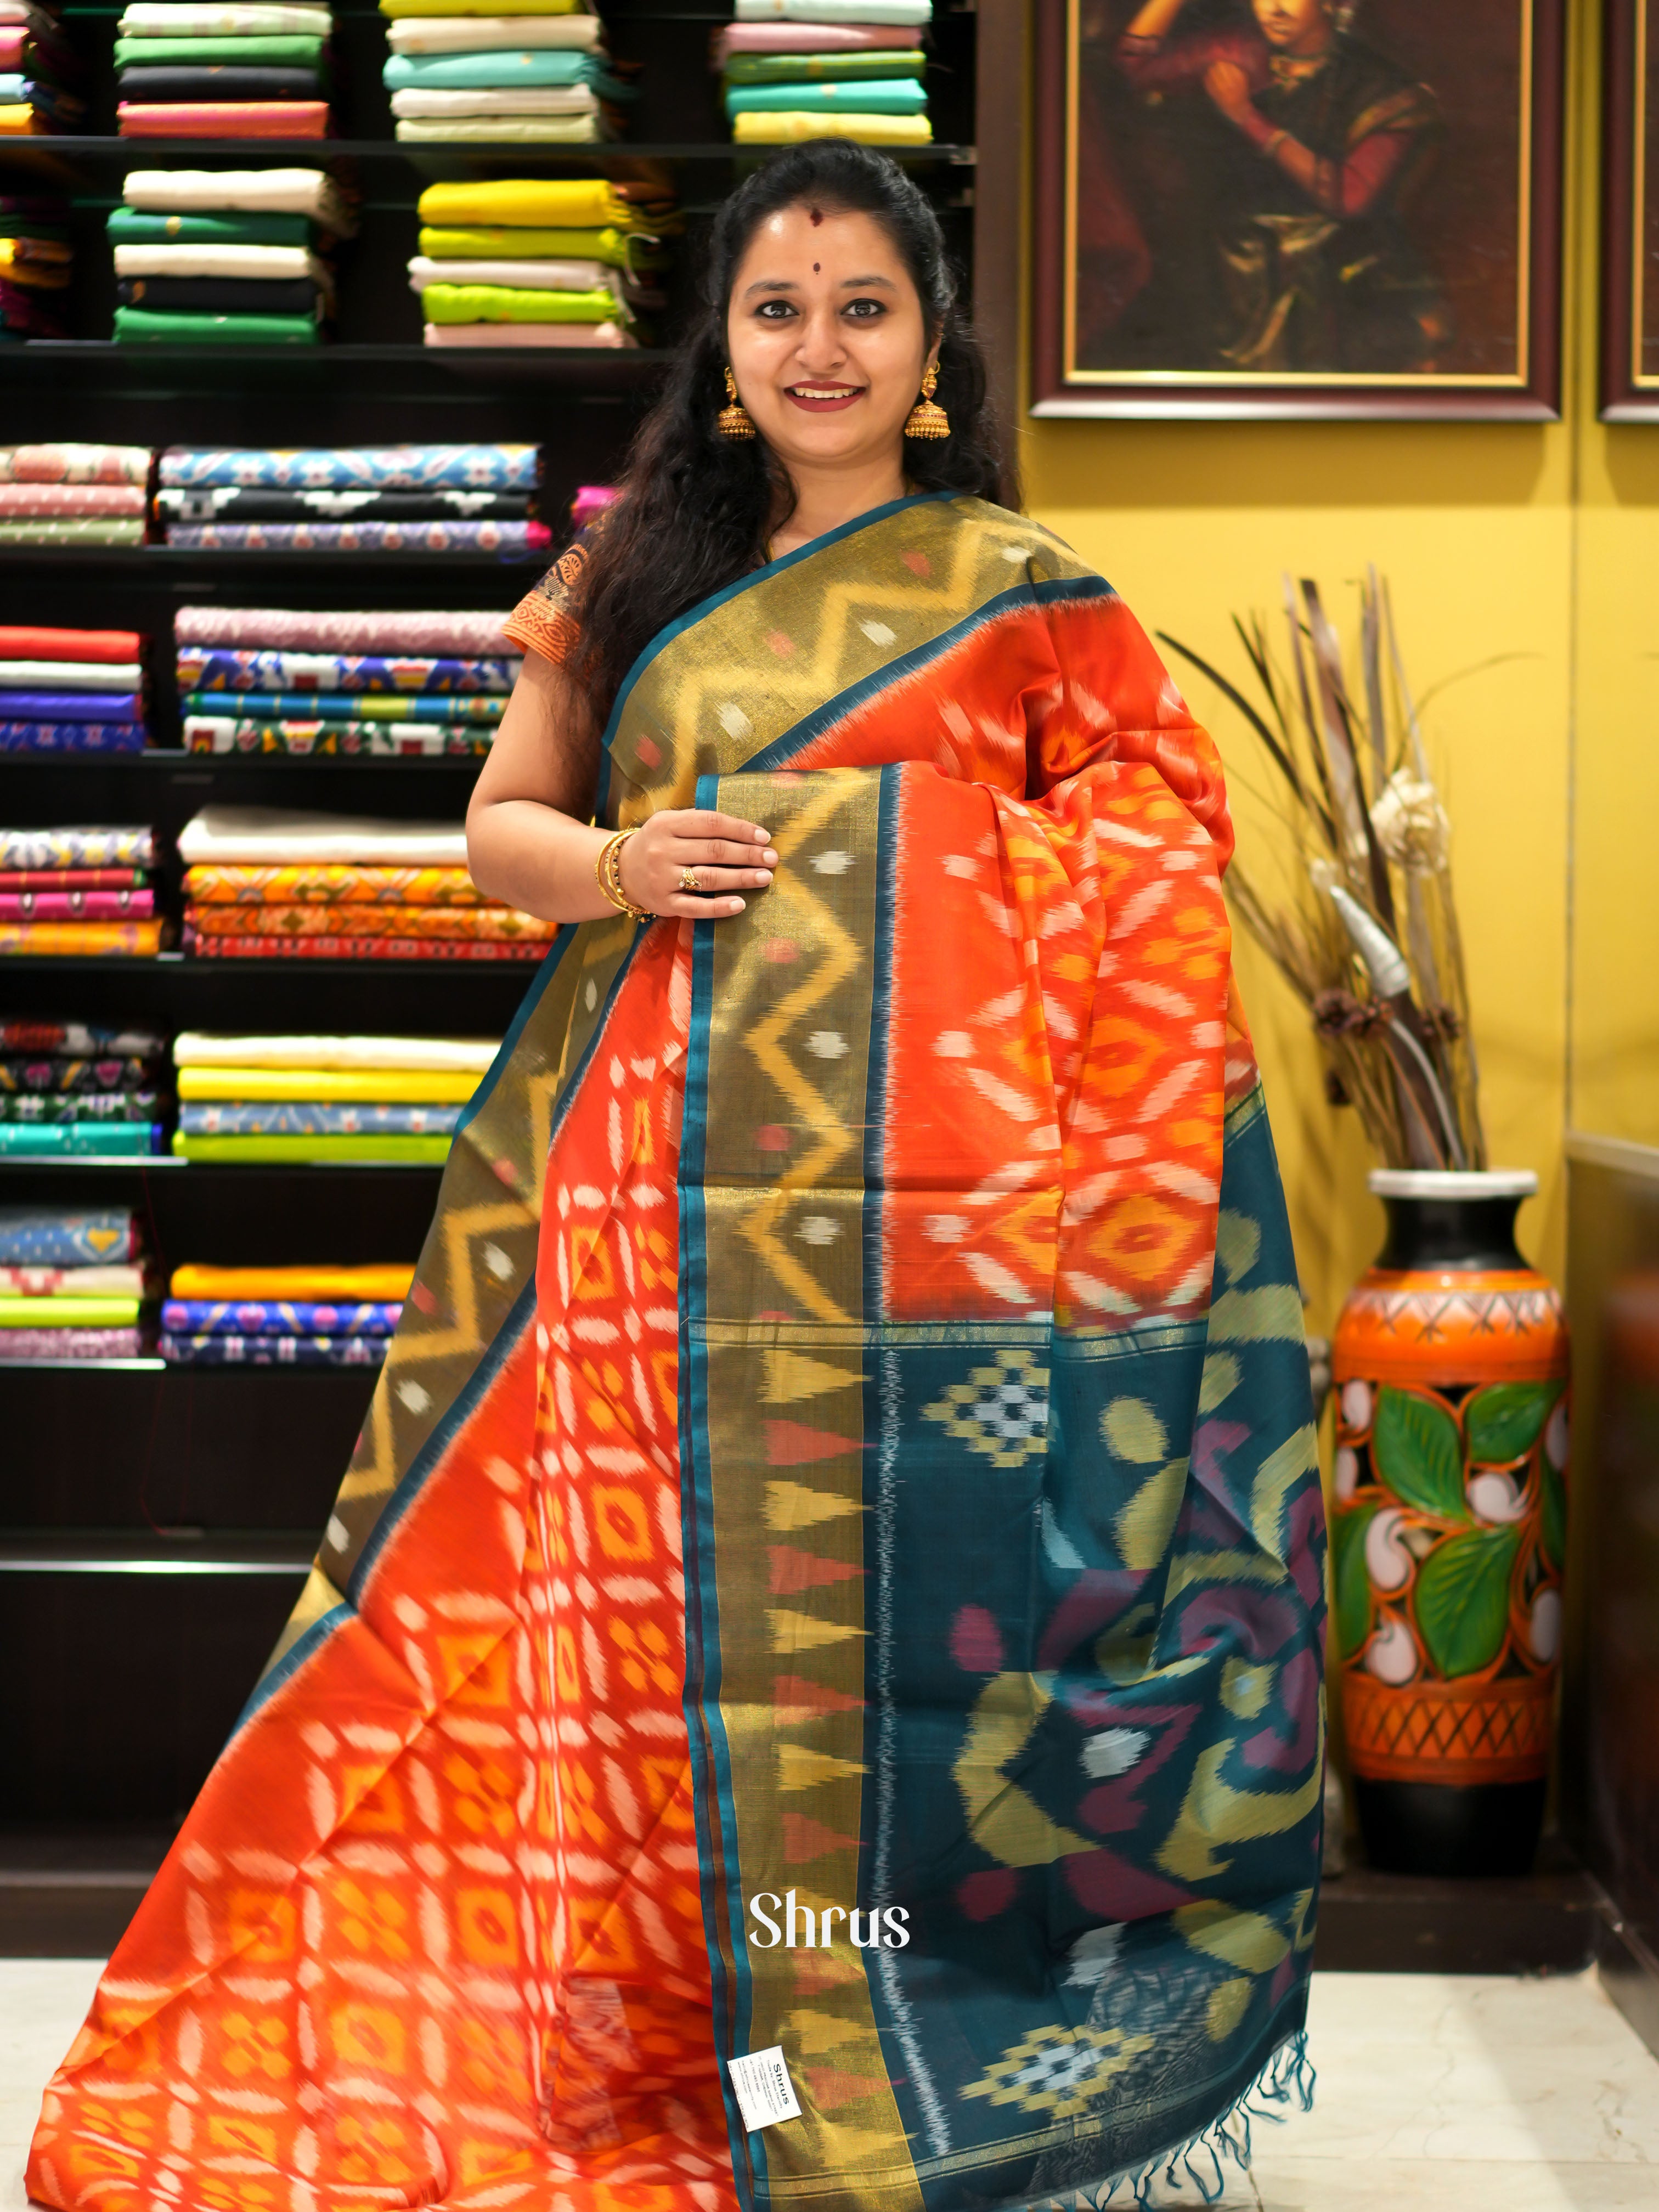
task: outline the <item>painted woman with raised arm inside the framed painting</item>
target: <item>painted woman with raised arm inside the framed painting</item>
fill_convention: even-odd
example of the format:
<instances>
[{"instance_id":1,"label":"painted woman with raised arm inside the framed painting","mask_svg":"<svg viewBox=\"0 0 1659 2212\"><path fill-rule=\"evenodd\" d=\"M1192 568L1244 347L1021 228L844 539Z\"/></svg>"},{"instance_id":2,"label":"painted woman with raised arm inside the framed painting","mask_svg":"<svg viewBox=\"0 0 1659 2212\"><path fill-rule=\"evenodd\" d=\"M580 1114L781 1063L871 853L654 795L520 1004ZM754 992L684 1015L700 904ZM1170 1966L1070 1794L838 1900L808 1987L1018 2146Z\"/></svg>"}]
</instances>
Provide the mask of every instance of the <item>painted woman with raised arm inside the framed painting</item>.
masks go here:
<instances>
[{"instance_id":1,"label":"painted woman with raised arm inside the framed painting","mask_svg":"<svg viewBox=\"0 0 1659 2212\"><path fill-rule=\"evenodd\" d=\"M1431 369L1444 307L1400 219L1438 135L1429 86L1349 35L1356 0L1252 0L1252 27L1179 35L1186 4L1146 0L1117 60L1141 95L1188 88L1221 119L1212 365Z\"/></svg>"}]
</instances>

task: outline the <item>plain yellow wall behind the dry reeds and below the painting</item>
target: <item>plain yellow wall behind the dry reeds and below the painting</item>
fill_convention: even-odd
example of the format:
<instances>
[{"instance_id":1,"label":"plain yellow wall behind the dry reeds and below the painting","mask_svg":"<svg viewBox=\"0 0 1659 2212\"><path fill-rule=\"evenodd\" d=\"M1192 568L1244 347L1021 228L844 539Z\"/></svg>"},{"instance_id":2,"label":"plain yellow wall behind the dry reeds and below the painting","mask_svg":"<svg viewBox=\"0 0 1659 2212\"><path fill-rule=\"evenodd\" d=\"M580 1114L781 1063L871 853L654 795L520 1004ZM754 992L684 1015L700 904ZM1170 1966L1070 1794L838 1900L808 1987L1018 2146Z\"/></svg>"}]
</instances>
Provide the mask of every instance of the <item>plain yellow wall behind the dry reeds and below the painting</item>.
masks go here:
<instances>
[{"instance_id":1,"label":"plain yellow wall behind the dry reeds and below the painting","mask_svg":"<svg viewBox=\"0 0 1659 2212\"><path fill-rule=\"evenodd\" d=\"M1548 425L1024 420L1026 504L1170 630L1239 672L1234 611L1318 577L1352 617L1374 562L1427 714L1455 843L1486 1139L1535 1168L1522 1243L1564 1270L1562 1133L1659 1141L1659 425L1595 422L1597 18L1573 0L1566 407ZM1241 852L1272 836L1241 783L1254 741L1177 677L1234 770ZM1571 849L1577 805L1577 867ZM1635 929L1635 938L1632 938ZM1380 1208L1349 1110L1325 1104L1307 1018L1248 942L1239 973L1267 1079L1312 1323L1374 1254Z\"/></svg>"}]
</instances>

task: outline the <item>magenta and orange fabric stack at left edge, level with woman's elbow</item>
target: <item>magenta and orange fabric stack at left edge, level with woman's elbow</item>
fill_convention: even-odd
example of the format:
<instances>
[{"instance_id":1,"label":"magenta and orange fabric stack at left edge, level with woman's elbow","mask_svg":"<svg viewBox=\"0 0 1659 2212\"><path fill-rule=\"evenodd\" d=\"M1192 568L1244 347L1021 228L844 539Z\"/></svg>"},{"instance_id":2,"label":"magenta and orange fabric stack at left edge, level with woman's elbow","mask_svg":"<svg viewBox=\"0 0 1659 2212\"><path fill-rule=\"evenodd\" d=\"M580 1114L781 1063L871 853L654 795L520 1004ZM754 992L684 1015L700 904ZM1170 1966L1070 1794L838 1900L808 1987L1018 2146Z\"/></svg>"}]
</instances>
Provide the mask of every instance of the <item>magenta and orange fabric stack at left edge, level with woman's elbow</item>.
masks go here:
<instances>
[{"instance_id":1,"label":"magenta and orange fabric stack at left edge, level with woman's elbow","mask_svg":"<svg viewBox=\"0 0 1659 2212\"><path fill-rule=\"evenodd\" d=\"M155 918L153 867L153 830L0 830L0 883L31 900L15 918L0 909L0 953L159 953L173 925ZM40 914L42 898L64 905ZM133 902L108 911L104 898Z\"/></svg>"}]
</instances>

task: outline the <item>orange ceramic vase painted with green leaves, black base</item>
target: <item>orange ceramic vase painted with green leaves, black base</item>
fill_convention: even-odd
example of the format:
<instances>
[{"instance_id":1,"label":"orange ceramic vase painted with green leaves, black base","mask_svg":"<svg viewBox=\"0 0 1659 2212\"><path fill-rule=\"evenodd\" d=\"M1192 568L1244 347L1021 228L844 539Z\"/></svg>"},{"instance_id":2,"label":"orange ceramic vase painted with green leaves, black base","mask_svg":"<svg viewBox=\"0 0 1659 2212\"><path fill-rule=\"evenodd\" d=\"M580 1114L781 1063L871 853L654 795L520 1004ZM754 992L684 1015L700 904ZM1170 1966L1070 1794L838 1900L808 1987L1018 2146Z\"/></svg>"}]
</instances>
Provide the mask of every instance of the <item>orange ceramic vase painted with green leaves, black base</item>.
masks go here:
<instances>
[{"instance_id":1,"label":"orange ceramic vase painted with green leaves, black base","mask_svg":"<svg viewBox=\"0 0 1659 2212\"><path fill-rule=\"evenodd\" d=\"M1524 1874L1544 1818L1566 1544L1562 1301L1515 1250L1528 1172L1376 1170L1343 1307L1336 1635L1365 1849Z\"/></svg>"}]
</instances>

